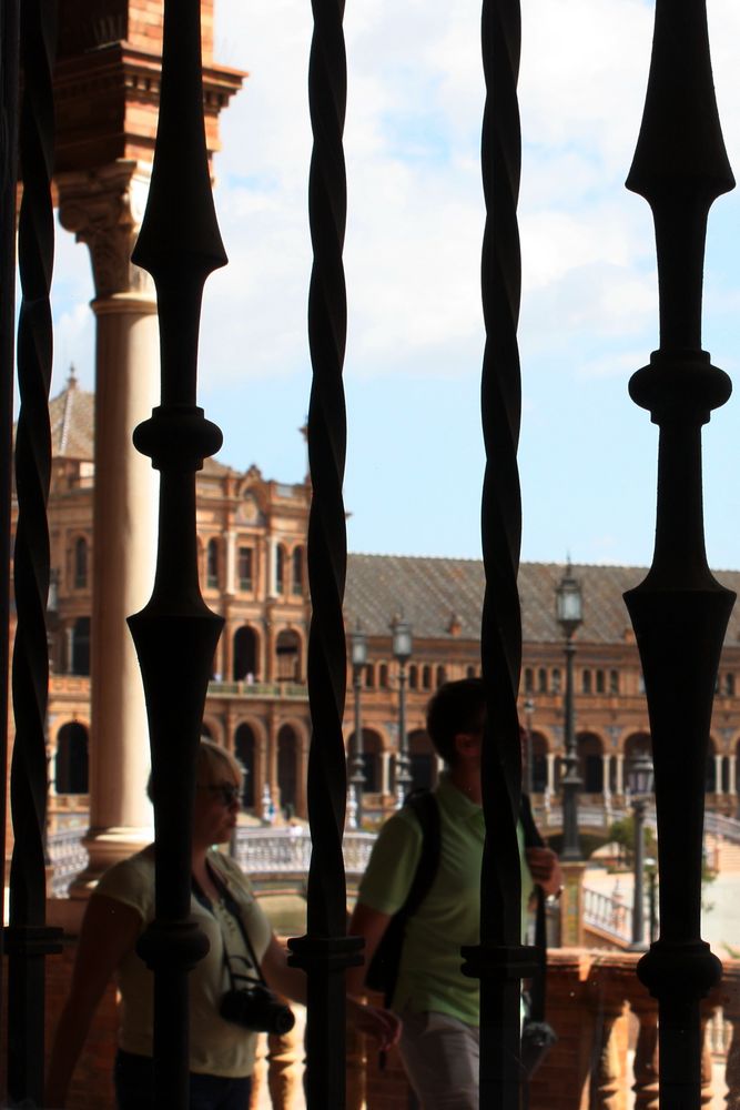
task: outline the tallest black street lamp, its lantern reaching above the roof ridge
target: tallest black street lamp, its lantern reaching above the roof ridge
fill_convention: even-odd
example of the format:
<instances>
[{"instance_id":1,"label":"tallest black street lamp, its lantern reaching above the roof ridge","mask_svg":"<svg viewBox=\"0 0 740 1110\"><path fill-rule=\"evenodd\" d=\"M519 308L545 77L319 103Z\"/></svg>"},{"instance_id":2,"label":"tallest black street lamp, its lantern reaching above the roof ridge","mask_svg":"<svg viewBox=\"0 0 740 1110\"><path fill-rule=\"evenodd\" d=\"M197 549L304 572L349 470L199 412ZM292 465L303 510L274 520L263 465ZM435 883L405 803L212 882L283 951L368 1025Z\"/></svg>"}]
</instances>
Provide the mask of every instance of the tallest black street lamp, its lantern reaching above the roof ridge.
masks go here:
<instances>
[{"instance_id":1,"label":"tallest black street lamp, its lantern reaching above the roof ridge","mask_svg":"<svg viewBox=\"0 0 740 1110\"><path fill-rule=\"evenodd\" d=\"M579 860L580 842L578 839L578 790L581 780L578 776L578 756L576 753L576 734L574 728L572 704L572 658L576 648L572 637L584 619L584 596L580 584L572 576L570 559L555 591L555 613L565 636L566 655L566 696L565 696L565 768L562 787L562 852L560 858L566 862Z\"/></svg>"}]
</instances>

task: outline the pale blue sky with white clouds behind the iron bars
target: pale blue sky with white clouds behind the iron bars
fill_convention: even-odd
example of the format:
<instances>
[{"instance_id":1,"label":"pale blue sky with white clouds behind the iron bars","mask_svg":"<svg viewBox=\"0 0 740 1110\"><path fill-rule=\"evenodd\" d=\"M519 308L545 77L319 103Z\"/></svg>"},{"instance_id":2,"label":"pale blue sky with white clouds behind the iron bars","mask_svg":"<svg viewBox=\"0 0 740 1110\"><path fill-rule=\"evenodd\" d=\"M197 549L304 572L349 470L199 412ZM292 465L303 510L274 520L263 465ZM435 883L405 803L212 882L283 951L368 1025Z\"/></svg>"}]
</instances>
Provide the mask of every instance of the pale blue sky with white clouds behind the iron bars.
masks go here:
<instances>
[{"instance_id":1,"label":"pale blue sky with white clouds behind the iron bars","mask_svg":"<svg viewBox=\"0 0 740 1110\"><path fill-rule=\"evenodd\" d=\"M528 0L524 167L523 558L642 563L657 428L627 394L657 346L648 205L624 180L652 37L642 0ZM740 11L709 0L714 78L740 173ZM484 210L479 0L347 4L345 504L352 551L478 557ZM206 285L200 403L223 462L300 481L311 367L304 0L216 0L216 58L249 70L222 115L216 208L230 266ZM740 199L710 214L704 347L740 365ZM92 387L85 250L60 231L54 390ZM704 431L707 541L740 567L738 402Z\"/></svg>"}]
</instances>

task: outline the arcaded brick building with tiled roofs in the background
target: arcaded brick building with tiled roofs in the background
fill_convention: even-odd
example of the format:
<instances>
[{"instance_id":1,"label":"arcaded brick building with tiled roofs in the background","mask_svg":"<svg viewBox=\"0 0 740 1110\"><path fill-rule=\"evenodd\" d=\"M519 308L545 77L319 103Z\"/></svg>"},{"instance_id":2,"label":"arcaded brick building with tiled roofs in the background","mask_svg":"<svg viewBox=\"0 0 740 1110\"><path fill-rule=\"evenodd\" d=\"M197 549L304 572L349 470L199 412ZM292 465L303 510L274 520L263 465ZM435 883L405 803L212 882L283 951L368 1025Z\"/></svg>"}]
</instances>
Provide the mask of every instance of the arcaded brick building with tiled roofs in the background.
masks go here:
<instances>
[{"instance_id":1,"label":"arcaded brick building with tiled roofs in the background","mask_svg":"<svg viewBox=\"0 0 740 1110\"><path fill-rule=\"evenodd\" d=\"M49 599L51 818L88 805L88 739L95 744L90 670L95 636L92 495L94 397L73 376L51 402L52 420L68 427L54 441L49 497L52 583ZM57 414L57 415L55 415ZM74 445L73 454L69 445ZM67 445L67 446L65 446ZM201 587L224 618L212 667L203 728L229 746L244 769L244 809L256 818L306 816L305 780L311 736L306 655L307 481L285 484L256 466L237 472L207 460L196 480ZM574 568L586 620L575 639L578 770L589 805L619 806L627 768L649 745L637 648L621 594L639 568ZM562 567L523 564L524 628L520 717L530 726L536 804L557 803L564 755L562 640L555 620L555 587ZM731 588L740 574L720 576ZM391 625L405 599L413 654L405 672L406 729L414 785L432 786L438 760L425 731L430 695L445 680L479 674L478 627L483 567L472 559L349 555L345 594L347 630L359 622L367 664L359 677L365 819L395 805L399 668ZM620 616L620 614L622 614ZM717 682L708 804L738 810L740 757L740 616L733 614ZM347 665L344 736L355 753L354 675ZM90 725L78 724L90 722ZM354 769L354 765L352 765ZM143 787L142 787L143 790Z\"/></svg>"}]
</instances>

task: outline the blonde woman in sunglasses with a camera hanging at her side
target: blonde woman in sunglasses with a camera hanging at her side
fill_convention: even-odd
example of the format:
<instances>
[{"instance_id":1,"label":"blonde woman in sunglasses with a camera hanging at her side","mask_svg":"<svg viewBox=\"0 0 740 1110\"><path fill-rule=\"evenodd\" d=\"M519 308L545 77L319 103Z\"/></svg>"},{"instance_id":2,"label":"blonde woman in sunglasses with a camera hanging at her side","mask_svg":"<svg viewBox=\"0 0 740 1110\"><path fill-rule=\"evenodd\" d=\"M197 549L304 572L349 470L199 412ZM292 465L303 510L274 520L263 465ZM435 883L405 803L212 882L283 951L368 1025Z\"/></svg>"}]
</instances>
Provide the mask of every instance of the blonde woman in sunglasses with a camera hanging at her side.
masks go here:
<instances>
[{"instance_id":1,"label":"blonde woman in sunglasses with a camera hanging at her side","mask_svg":"<svg viewBox=\"0 0 740 1110\"><path fill-rule=\"evenodd\" d=\"M196 757L192 829L191 914L206 935L207 955L190 976L191 1110L245 1110L257 1030L292 1025L290 1010L265 988L305 1001L303 971L287 966L251 885L226 844L236 826L242 769L211 740ZM136 953L154 918L154 845L103 875L85 910L70 996L61 1012L47 1078L47 1106L63 1107L70 1080L98 1003L113 973L122 1008L114 1082L119 1110L154 1108L153 975ZM266 1008L266 1009L265 1009ZM398 1038L387 1010L347 999L357 1027L382 1049Z\"/></svg>"}]
</instances>

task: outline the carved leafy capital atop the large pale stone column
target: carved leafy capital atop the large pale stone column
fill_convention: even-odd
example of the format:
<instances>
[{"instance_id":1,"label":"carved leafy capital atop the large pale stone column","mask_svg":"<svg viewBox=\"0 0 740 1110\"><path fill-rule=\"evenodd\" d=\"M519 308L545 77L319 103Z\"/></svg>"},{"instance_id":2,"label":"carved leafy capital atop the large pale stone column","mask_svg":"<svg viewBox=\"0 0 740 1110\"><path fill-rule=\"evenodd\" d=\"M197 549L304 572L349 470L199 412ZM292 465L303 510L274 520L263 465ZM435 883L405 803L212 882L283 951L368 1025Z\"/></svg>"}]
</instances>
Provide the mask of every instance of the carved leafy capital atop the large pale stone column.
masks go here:
<instances>
[{"instance_id":1,"label":"carved leafy capital atop the large pale stone column","mask_svg":"<svg viewBox=\"0 0 740 1110\"><path fill-rule=\"evenodd\" d=\"M119 159L92 172L57 179L59 219L90 249L97 299L120 293L154 297L151 276L131 261L144 214L151 168Z\"/></svg>"}]
</instances>

